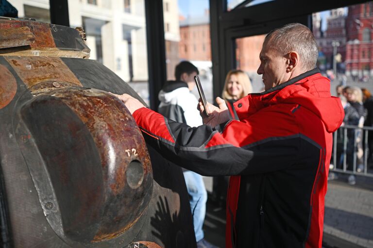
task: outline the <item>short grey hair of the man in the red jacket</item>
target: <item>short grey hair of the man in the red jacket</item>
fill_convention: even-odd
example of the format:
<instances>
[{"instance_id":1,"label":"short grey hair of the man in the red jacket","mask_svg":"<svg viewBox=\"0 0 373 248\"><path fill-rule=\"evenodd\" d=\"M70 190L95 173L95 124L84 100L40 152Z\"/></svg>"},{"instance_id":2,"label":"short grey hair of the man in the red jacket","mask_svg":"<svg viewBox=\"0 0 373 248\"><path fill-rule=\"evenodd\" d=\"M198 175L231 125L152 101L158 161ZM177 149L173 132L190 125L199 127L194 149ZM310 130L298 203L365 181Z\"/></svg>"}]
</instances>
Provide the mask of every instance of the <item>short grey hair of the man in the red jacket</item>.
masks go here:
<instances>
[{"instance_id":1,"label":"short grey hair of the man in the red jacket","mask_svg":"<svg viewBox=\"0 0 373 248\"><path fill-rule=\"evenodd\" d=\"M313 33L300 23L290 23L282 28L272 30L264 39L270 48L276 49L280 55L296 51L307 71L316 66L319 50Z\"/></svg>"}]
</instances>

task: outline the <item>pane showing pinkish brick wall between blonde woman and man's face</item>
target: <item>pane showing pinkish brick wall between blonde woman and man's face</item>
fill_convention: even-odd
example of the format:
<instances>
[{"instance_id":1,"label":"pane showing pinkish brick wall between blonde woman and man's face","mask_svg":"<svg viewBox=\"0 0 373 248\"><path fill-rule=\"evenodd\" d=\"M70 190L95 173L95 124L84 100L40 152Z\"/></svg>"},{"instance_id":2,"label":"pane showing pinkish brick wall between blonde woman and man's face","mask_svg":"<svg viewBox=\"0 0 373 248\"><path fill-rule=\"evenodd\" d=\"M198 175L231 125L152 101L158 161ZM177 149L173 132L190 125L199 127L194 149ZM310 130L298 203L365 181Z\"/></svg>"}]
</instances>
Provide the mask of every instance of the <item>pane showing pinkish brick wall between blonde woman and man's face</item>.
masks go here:
<instances>
[{"instance_id":1,"label":"pane showing pinkish brick wall between blonde woman and man's face","mask_svg":"<svg viewBox=\"0 0 373 248\"><path fill-rule=\"evenodd\" d=\"M262 49L265 34L236 39L237 69L246 72L251 79L253 92L262 92L264 85L262 76L256 73L259 65L259 54Z\"/></svg>"}]
</instances>

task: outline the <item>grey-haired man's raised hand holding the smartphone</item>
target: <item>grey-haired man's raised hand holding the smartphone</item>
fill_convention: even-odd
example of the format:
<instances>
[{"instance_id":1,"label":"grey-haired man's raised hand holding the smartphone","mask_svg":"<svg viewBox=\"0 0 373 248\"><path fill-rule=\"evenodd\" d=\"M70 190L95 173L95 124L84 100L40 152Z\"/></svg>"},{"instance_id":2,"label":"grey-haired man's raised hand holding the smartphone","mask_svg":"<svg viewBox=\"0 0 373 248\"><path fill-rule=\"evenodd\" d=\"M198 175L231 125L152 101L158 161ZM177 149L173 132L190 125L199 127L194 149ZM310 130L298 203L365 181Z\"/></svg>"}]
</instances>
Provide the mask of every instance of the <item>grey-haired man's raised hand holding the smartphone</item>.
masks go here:
<instances>
[{"instance_id":1,"label":"grey-haired man's raised hand holding the smartphone","mask_svg":"<svg viewBox=\"0 0 373 248\"><path fill-rule=\"evenodd\" d=\"M202 100L200 99L197 109L200 110L200 115L203 120L203 124L209 125L209 126L216 126L219 125L220 123L229 121L230 116L229 116L229 110L227 105L225 104L225 101L221 99L220 97L216 98L216 102L219 105L218 107L215 107L214 105L207 103L207 112L208 112L208 117L204 116L203 114L203 105L202 105Z\"/></svg>"}]
</instances>

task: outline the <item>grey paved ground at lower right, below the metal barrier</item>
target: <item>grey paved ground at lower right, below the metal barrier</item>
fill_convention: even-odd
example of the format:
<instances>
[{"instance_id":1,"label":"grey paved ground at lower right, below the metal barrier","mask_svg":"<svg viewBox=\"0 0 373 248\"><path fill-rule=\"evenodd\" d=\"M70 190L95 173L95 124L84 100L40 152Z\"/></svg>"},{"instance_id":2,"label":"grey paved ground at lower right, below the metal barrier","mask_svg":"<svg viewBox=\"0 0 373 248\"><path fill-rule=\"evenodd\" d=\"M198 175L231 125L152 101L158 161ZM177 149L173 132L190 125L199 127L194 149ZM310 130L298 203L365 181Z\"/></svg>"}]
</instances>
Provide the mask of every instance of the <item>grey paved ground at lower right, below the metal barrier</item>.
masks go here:
<instances>
[{"instance_id":1,"label":"grey paved ground at lower right, below the metal barrier","mask_svg":"<svg viewBox=\"0 0 373 248\"><path fill-rule=\"evenodd\" d=\"M324 233L373 248L373 190L329 181Z\"/></svg>"}]
</instances>

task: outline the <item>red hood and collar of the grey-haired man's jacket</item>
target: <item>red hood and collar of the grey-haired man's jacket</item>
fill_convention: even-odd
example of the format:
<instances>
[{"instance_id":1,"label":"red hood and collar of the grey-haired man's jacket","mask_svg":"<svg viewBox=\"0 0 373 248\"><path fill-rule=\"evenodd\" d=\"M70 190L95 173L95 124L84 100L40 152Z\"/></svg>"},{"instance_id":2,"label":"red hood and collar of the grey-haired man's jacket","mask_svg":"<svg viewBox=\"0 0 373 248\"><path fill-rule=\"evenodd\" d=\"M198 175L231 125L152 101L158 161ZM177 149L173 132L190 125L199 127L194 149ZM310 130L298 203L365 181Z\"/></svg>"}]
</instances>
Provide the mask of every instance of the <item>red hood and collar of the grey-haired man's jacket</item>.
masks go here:
<instances>
[{"instance_id":1,"label":"red hood and collar of the grey-haired man's jacket","mask_svg":"<svg viewBox=\"0 0 373 248\"><path fill-rule=\"evenodd\" d=\"M314 69L263 93L252 93L235 103L246 102L248 108L236 108L238 117L247 117L259 109L274 104L297 104L317 115L329 133L335 132L343 122L344 110L340 99L331 96L330 80ZM246 111L246 113L245 113Z\"/></svg>"}]
</instances>

